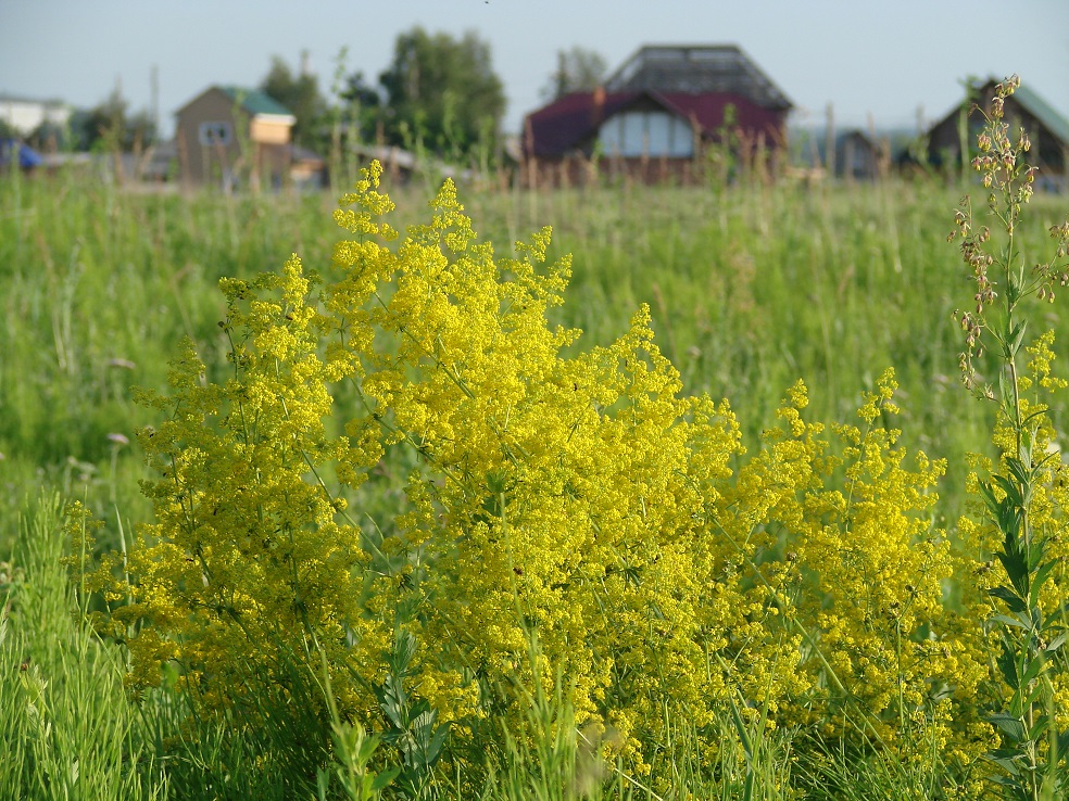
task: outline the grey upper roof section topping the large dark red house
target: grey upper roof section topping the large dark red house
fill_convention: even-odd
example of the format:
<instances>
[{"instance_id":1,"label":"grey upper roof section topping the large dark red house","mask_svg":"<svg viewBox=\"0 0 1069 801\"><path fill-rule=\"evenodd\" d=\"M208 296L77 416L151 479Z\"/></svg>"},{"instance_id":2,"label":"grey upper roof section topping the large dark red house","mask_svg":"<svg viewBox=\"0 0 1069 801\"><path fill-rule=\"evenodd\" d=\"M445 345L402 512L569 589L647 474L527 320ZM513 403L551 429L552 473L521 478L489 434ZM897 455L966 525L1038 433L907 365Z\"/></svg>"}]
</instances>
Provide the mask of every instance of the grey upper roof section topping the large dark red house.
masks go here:
<instances>
[{"instance_id":1,"label":"grey upper roof section topping the large dark red house","mask_svg":"<svg viewBox=\"0 0 1069 801\"><path fill-rule=\"evenodd\" d=\"M605 81L609 91L735 92L764 109L790 99L738 44L646 44Z\"/></svg>"}]
</instances>

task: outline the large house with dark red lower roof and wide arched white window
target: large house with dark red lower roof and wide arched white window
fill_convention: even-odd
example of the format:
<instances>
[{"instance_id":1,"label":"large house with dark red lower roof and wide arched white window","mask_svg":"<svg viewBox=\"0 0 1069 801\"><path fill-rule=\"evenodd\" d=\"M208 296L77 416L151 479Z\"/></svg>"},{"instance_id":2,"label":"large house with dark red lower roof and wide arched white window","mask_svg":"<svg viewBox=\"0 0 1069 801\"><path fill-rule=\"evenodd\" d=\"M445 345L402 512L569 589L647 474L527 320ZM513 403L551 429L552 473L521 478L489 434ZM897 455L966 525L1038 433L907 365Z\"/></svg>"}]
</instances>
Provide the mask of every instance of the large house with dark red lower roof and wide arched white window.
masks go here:
<instances>
[{"instance_id":1,"label":"large house with dark red lower roof and wide arched white window","mask_svg":"<svg viewBox=\"0 0 1069 801\"><path fill-rule=\"evenodd\" d=\"M643 47L604 86L528 115L524 180L582 183L607 170L644 182L690 182L714 144L744 167L763 155L775 161L792 107L733 44Z\"/></svg>"}]
</instances>

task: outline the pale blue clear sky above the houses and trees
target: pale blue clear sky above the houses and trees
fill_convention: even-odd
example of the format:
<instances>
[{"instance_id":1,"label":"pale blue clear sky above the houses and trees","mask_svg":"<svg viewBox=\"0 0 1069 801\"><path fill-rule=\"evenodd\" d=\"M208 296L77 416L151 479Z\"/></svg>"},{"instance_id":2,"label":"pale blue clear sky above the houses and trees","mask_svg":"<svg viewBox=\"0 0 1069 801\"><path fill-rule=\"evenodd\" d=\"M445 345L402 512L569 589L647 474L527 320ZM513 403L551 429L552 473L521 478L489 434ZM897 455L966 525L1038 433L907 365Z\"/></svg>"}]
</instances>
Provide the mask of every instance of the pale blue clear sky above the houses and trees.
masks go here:
<instances>
[{"instance_id":1,"label":"pale blue clear sky above the houses and trees","mask_svg":"<svg viewBox=\"0 0 1069 801\"><path fill-rule=\"evenodd\" d=\"M488 41L506 132L543 103L556 52L614 69L643 44L742 48L794 103L792 123L915 128L967 76L1011 73L1069 117L1069 0L0 0L0 96L91 107L121 86L162 131L213 84L255 87L273 55L301 52L329 90L338 59L377 79L414 26Z\"/></svg>"}]
</instances>

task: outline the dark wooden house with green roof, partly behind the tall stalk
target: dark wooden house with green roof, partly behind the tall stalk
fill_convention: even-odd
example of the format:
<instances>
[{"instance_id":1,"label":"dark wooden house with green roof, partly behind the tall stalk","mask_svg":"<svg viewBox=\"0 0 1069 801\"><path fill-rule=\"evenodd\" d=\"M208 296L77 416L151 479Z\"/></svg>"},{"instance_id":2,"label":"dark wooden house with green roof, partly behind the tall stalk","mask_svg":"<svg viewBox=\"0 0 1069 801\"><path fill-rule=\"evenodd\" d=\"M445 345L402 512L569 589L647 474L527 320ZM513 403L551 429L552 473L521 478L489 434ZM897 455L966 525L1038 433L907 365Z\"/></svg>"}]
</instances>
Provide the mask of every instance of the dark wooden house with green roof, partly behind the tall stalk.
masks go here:
<instances>
[{"instance_id":1,"label":"dark wooden house with green roof, partly behind the tall stalk","mask_svg":"<svg viewBox=\"0 0 1069 801\"><path fill-rule=\"evenodd\" d=\"M968 163L977 154L977 136L983 128L983 115L972 111L973 103L990 112L995 93L995 78L976 85L971 97L952 109L946 116L928 130L927 155L929 164L947 170L961 168L963 134ZM963 127L963 120L967 120ZM1036 183L1048 190L1069 188L1066 168L1069 165L1069 120L1059 114L1034 90L1021 85L1006 99L1005 120L1010 136L1023 127L1032 142L1028 153L1029 164L1040 168Z\"/></svg>"}]
</instances>

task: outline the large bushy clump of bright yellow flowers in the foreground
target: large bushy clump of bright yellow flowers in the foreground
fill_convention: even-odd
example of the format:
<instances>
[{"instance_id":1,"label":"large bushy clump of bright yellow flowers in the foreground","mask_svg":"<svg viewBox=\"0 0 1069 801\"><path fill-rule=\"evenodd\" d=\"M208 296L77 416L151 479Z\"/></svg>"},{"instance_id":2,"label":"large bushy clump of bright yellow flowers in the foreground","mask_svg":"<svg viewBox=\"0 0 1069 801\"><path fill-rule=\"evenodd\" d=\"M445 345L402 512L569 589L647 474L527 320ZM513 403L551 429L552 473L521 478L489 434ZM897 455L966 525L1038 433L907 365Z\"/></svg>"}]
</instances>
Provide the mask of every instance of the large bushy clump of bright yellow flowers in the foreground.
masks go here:
<instances>
[{"instance_id":1,"label":"large bushy clump of bright yellow flowers in the foreground","mask_svg":"<svg viewBox=\"0 0 1069 801\"><path fill-rule=\"evenodd\" d=\"M97 584L129 597L109 625L134 688L175 660L225 703L250 664L281 683L280 654L322 648L344 713L374 724L367 688L405 627L417 691L458 733L491 709L520 729L524 688L559 675L577 722L616 729L639 768L666 709L702 730L740 697L774 722L863 717L891 742L919 715L954 740L941 699L977 669L928 517L943 465L879 424L890 373L830 434L795 385L746 458L726 402L681 395L647 309L563 355L579 332L546 321L570 270L545 265L549 229L500 256L447 182L391 244L380 173L336 213L353 234L337 280L295 256L224 280L230 374L209 381L186 343L172 393L144 396L166 415L139 437L156 522ZM406 506L379 543L345 499L402 454Z\"/></svg>"}]
</instances>

